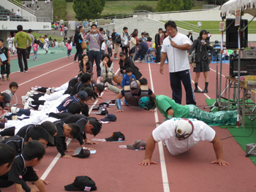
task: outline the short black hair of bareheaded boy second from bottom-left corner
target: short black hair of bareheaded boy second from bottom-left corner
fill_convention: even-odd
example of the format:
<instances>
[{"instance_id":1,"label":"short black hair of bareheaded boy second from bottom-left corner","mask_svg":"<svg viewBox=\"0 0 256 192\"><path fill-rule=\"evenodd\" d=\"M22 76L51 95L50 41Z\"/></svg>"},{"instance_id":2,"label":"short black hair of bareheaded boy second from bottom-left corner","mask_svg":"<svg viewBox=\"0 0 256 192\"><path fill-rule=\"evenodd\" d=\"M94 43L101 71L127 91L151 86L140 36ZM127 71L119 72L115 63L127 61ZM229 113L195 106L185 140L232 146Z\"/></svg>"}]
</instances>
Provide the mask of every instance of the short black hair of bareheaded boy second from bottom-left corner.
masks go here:
<instances>
[{"instance_id":1,"label":"short black hair of bareheaded boy second from bottom-left corner","mask_svg":"<svg viewBox=\"0 0 256 192\"><path fill-rule=\"evenodd\" d=\"M45 155L45 147L38 141L29 141L24 146L22 155L26 161L31 161L34 158L39 161Z\"/></svg>"}]
</instances>

